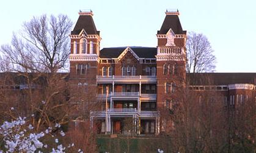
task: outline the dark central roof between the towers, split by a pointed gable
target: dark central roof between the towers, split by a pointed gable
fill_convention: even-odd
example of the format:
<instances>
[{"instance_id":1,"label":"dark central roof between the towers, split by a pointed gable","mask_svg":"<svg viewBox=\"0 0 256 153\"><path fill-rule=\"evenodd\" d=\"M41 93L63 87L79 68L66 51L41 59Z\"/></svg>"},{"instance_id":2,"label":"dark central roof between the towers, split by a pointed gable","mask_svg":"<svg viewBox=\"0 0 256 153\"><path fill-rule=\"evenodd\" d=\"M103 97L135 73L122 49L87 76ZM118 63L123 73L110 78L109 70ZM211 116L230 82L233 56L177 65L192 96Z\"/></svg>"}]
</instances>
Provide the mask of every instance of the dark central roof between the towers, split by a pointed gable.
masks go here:
<instances>
[{"instance_id":1,"label":"dark central roof between the towers, split by a pointed gable","mask_svg":"<svg viewBox=\"0 0 256 153\"><path fill-rule=\"evenodd\" d=\"M100 50L100 58L117 58L127 47L103 48ZM130 47L139 58L155 59L156 48Z\"/></svg>"}]
</instances>

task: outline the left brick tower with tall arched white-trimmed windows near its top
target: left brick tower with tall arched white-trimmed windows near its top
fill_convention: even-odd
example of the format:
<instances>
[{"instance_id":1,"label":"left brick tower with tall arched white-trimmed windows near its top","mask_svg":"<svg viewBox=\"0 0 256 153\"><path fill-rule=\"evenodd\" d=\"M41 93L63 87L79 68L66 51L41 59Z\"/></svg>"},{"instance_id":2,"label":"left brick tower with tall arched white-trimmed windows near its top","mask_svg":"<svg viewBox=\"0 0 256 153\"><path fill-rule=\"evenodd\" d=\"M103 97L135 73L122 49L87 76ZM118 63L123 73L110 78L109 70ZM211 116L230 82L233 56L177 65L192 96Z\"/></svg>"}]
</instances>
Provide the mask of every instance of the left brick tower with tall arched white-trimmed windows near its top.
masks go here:
<instances>
[{"instance_id":1,"label":"left brick tower with tall arched white-trimmed windows near its top","mask_svg":"<svg viewBox=\"0 0 256 153\"><path fill-rule=\"evenodd\" d=\"M75 85L96 85L101 38L92 16L91 10L80 10L70 35L70 80Z\"/></svg>"}]
</instances>

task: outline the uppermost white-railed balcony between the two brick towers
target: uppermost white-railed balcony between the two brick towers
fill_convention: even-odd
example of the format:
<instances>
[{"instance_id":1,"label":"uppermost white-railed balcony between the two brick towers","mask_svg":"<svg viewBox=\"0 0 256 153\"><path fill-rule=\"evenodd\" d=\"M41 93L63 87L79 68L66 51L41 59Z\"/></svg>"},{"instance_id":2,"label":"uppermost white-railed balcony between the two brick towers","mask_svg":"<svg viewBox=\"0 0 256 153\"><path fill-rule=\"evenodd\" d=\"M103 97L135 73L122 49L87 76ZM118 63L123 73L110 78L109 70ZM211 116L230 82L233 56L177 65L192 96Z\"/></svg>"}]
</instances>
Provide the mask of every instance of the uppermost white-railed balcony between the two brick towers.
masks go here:
<instances>
[{"instance_id":1,"label":"uppermost white-railed balcony between the two brick towers","mask_svg":"<svg viewBox=\"0 0 256 153\"><path fill-rule=\"evenodd\" d=\"M99 84L112 84L116 83L136 83L139 82L150 82L151 84L156 84L156 76L97 76L97 82Z\"/></svg>"}]
</instances>

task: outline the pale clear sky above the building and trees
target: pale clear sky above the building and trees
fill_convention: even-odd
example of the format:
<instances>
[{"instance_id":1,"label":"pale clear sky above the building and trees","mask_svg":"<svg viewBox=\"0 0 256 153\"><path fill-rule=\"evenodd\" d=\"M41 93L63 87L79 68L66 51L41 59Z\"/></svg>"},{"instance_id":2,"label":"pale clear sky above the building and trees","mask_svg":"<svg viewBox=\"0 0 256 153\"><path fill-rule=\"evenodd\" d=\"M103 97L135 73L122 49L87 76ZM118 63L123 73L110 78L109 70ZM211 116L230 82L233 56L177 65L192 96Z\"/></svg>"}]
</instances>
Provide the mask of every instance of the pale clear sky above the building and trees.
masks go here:
<instances>
[{"instance_id":1,"label":"pale clear sky above the building and trees","mask_svg":"<svg viewBox=\"0 0 256 153\"><path fill-rule=\"evenodd\" d=\"M183 30L207 36L217 73L256 73L255 0L0 0L0 45L33 16L65 14L74 22L91 9L101 48L156 47L166 9L178 9Z\"/></svg>"}]
</instances>

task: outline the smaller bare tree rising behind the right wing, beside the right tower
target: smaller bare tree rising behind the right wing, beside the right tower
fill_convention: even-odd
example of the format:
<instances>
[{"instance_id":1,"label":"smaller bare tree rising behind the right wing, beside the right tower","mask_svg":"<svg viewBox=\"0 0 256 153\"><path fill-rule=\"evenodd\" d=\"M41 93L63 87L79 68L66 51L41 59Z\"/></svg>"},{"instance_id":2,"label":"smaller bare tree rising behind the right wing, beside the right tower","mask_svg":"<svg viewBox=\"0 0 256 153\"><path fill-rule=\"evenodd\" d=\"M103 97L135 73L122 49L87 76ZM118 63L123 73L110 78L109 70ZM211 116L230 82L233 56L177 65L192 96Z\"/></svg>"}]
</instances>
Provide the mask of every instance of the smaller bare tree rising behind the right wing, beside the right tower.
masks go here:
<instances>
[{"instance_id":1,"label":"smaller bare tree rising behind the right wing, beside the right tower","mask_svg":"<svg viewBox=\"0 0 256 153\"><path fill-rule=\"evenodd\" d=\"M190 32L186 41L188 73L213 72L216 64L214 50L211 48L210 41L203 34Z\"/></svg>"}]
</instances>

